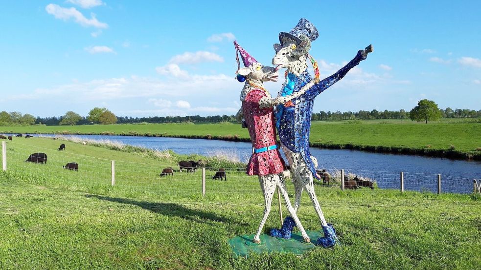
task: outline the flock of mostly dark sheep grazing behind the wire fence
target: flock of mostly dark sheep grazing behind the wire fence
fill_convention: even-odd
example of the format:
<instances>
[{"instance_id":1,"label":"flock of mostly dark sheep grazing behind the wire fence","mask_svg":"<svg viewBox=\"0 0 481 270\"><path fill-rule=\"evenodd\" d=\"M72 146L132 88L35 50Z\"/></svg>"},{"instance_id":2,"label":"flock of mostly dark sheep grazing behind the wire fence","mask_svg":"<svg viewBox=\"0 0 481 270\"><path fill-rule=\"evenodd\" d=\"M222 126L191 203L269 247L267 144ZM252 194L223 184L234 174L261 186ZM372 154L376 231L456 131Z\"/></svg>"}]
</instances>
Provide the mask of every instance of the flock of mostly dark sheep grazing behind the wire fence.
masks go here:
<instances>
[{"instance_id":1,"label":"flock of mostly dark sheep grazing behind the wire fence","mask_svg":"<svg viewBox=\"0 0 481 270\"><path fill-rule=\"evenodd\" d=\"M16 137L23 137L23 134L18 134ZM31 138L33 137L32 135L25 135L25 138ZM0 139L8 139L10 141L13 140L12 136L4 136L0 135ZM83 143L85 145L85 143ZM65 144L61 144L60 147L57 149L59 151L65 150ZM47 164L47 155L45 153L33 153L31 154L28 159L25 162L32 162L32 163L40 163L40 164ZM198 160L198 161L181 161L179 162L179 171L182 172L185 170L186 172L194 173L197 171L197 168L205 166L205 162L203 160ZM69 169L69 170L76 170L78 171L78 164L76 162L70 162L67 163L65 166L63 166L64 169ZM162 172L160 173L160 177L164 177L167 175L174 175L174 168L172 167L167 167L162 169ZM330 186L330 181L332 179L331 175L325 170L316 170L316 172L322 177L322 183L324 186ZM283 172L283 176L285 178L290 177L290 167L287 166L286 170ZM212 179L219 179L219 180L225 180L227 181L227 175L226 175L226 170L224 168L219 168L217 172L213 176L211 176ZM354 178L349 178L348 176L344 176L344 187L349 188L349 189L357 189L359 187L369 187L371 189L374 189L374 184L372 181L361 179L358 176L355 176Z\"/></svg>"}]
</instances>

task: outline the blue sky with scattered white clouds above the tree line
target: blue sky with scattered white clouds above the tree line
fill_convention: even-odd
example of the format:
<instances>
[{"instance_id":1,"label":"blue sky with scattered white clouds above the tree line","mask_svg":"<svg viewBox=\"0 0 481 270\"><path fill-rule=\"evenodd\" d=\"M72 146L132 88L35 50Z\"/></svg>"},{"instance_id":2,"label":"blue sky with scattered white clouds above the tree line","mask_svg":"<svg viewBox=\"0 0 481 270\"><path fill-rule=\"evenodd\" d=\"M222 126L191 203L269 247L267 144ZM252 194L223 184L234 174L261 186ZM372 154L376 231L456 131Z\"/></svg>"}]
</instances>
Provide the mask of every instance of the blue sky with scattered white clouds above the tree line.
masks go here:
<instances>
[{"instance_id":1,"label":"blue sky with scattered white clouds above the tree line","mask_svg":"<svg viewBox=\"0 0 481 270\"><path fill-rule=\"evenodd\" d=\"M322 78L374 46L317 97L316 112L410 110L423 98L480 110L481 2L396 2L8 1L0 10L0 111L234 114L243 85L233 79L232 41L270 65L278 33L300 18L320 32L310 53ZM265 86L275 95L281 83Z\"/></svg>"}]
</instances>

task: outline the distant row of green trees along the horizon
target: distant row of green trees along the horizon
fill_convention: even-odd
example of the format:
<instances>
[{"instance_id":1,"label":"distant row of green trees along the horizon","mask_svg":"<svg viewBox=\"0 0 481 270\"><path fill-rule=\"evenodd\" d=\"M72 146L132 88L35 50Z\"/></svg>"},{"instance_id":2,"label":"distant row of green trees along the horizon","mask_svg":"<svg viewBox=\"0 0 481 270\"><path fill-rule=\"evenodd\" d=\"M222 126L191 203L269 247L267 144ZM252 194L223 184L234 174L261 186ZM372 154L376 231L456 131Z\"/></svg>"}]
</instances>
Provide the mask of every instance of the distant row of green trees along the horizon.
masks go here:
<instances>
[{"instance_id":1,"label":"distant row of green trees along the horizon","mask_svg":"<svg viewBox=\"0 0 481 270\"><path fill-rule=\"evenodd\" d=\"M408 119L413 121L435 121L438 118L464 118L464 117L481 117L481 110L469 109L439 109L434 101L421 100L418 105L407 112L404 109L399 111L371 111L360 110L358 112L341 112L341 111L321 111L312 114L312 120L369 120L369 119ZM0 125L92 125L92 124L136 124L136 123L219 123L234 122L234 115L214 115L214 116L149 116L149 117L122 117L116 116L113 112L106 108L95 107L90 110L88 116L81 116L73 111L68 111L63 116L53 117L37 117L20 112L0 112Z\"/></svg>"}]
</instances>

